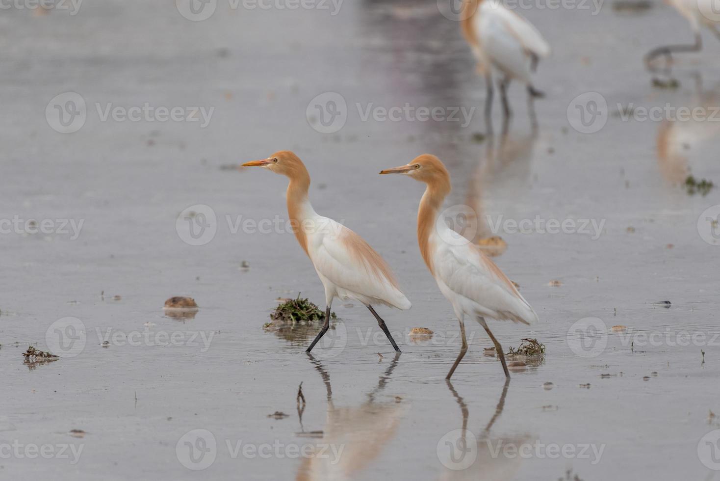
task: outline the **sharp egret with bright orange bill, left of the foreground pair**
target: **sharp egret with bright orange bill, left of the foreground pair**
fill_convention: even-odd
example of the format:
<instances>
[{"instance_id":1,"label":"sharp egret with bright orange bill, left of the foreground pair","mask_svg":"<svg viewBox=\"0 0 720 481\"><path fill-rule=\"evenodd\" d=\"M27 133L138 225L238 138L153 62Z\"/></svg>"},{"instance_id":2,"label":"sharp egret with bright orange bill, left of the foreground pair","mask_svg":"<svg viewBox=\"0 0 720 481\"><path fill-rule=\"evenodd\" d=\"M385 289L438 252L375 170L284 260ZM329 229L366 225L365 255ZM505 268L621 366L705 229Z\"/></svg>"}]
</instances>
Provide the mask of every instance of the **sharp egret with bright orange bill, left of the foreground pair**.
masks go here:
<instances>
[{"instance_id":1,"label":"sharp egret with bright orange bill, left of the foreground pair","mask_svg":"<svg viewBox=\"0 0 720 481\"><path fill-rule=\"evenodd\" d=\"M261 161L243 163L244 167L264 167L287 176L287 213L295 237L318 272L325 287L325 324L306 352L330 328L330 305L335 297L353 299L370 310L395 351L400 352L384 320L375 312L373 304L398 309L410 309L410 301L400 291L395 275L379 253L359 235L328 217L318 215L307 198L310 174L294 153L282 150Z\"/></svg>"}]
</instances>

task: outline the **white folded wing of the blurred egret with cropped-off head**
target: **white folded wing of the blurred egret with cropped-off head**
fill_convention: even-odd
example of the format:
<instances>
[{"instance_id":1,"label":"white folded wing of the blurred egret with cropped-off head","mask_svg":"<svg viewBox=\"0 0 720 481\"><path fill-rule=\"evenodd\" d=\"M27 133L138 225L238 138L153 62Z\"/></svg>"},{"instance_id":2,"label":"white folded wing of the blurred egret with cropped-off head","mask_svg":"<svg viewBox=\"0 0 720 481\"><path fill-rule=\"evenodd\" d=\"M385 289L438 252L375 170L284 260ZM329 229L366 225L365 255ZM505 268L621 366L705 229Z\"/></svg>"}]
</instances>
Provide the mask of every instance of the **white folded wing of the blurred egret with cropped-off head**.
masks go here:
<instances>
[{"instance_id":1,"label":"white folded wing of the blurred egret with cropped-off head","mask_svg":"<svg viewBox=\"0 0 720 481\"><path fill-rule=\"evenodd\" d=\"M550 46L540 32L495 0L483 1L474 18L480 45L492 64L513 78L530 82L528 55L546 57Z\"/></svg>"}]
</instances>

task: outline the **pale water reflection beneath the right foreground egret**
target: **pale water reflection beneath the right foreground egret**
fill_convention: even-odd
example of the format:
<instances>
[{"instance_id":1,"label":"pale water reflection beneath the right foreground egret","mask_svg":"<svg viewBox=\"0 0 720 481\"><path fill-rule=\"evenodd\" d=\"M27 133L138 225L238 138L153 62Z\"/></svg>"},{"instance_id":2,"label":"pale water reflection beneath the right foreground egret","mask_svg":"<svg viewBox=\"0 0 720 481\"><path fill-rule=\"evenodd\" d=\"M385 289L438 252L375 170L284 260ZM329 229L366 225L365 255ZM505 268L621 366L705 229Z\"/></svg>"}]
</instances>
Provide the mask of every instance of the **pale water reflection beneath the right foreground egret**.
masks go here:
<instances>
[{"instance_id":1,"label":"pale water reflection beneath the right foreground egret","mask_svg":"<svg viewBox=\"0 0 720 481\"><path fill-rule=\"evenodd\" d=\"M483 480L483 481L501 481L515 479L516 473L520 469L522 458L520 456L505 456L504 449L506 447L519 448L521 444L528 442L528 436L492 436L491 430L495 421L498 421L500 415L505 408L505 397L508 395L508 387L510 387L510 379L505 380L503 392L500 394L500 400L495 407L490 421L478 436L474 436L467 431L467 420L469 417L469 409L462 396L455 390L452 382L448 379L448 388L455 397L456 402L460 406L462 414L462 435L456 440L456 446L446 446L448 449L462 449L466 454L465 458L458 457L456 459L449 458L444 466L446 469L441 473L440 479L443 481L450 480ZM469 446L468 443L474 443ZM438 454L441 446L438 446ZM474 454L474 459L473 459ZM454 465L457 460L464 462L462 465ZM460 469L462 468L462 469Z\"/></svg>"}]
</instances>

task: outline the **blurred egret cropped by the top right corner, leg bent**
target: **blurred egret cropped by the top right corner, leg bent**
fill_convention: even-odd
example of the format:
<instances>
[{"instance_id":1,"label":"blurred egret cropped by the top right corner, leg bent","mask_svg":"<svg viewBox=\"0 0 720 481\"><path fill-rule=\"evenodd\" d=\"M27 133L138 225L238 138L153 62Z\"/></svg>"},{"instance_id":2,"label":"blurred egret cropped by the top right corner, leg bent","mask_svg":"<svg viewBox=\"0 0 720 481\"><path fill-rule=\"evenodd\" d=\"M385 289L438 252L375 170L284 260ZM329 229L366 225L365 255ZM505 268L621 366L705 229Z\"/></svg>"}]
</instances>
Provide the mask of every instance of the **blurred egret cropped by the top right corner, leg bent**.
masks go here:
<instances>
[{"instance_id":1,"label":"blurred egret cropped by the top right corner, leg bent","mask_svg":"<svg viewBox=\"0 0 720 481\"><path fill-rule=\"evenodd\" d=\"M714 6L715 0L665 0L665 3L675 7L683 17L690 22L690 28L695 34L693 45L664 45L654 48L645 55L645 63L649 67L650 62L658 55L665 55L665 60L670 63L672 53L699 52L703 48L703 36L700 27L707 27L720 40L720 13Z\"/></svg>"}]
</instances>

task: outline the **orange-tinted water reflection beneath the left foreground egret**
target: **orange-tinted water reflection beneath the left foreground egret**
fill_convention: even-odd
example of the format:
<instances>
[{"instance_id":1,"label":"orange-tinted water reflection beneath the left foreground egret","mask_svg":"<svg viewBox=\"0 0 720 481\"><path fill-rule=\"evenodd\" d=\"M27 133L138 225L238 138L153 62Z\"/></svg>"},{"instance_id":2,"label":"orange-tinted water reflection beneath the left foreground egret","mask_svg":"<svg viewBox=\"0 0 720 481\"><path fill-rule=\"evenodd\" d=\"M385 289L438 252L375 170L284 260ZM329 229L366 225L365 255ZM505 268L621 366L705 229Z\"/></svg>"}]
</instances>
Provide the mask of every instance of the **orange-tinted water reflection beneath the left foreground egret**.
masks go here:
<instances>
[{"instance_id":1,"label":"orange-tinted water reflection beneath the left foreground egret","mask_svg":"<svg viewBox=\"0 0 720 481\"><path fill-rule=\"evenodd\" d=\"M307 457L297 471L297 481L346 480L367 467L382 452L385 444L395 438L405 406L394 400L383 402L377 395L384 390L400 354L390 361L390 366L380 375L375 386L366 395L366 401L356 407L338 407L333 402L330 374L312 354L307 354L325 384L328 413L322 431L303 431L298 436L310 436L318 443L342 449L337 459L333 457ZM302 418L301 418L302 426Z\"/></svg>"}]
</instances>

